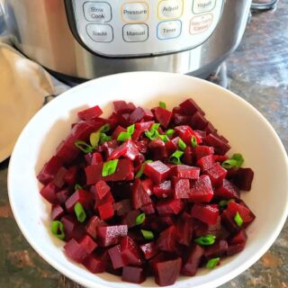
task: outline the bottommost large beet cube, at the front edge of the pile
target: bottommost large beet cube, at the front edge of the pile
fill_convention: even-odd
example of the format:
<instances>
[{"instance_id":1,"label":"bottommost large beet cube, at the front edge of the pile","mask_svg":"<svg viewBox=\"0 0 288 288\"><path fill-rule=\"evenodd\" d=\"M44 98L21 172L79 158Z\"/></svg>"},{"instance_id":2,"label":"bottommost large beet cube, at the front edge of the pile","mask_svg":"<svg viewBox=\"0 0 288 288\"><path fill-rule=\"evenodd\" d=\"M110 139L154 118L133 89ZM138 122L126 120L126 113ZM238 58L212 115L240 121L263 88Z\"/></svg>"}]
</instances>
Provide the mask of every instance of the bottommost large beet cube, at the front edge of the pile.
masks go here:
<instances>
[{"instance_id":1,"label":"bottommost large beet cube, at the front edge of the pile","mask_svg":"<svg viewBox=\"0 0 288 288\"><path fill-rule=\"evenodd\" d=\"M155 282L159 286L168 286L175 284L175 281L180 273L182 259L168 260L165 262L157 262L153 264L155 273Z\"/></svg>"}]
</instances>

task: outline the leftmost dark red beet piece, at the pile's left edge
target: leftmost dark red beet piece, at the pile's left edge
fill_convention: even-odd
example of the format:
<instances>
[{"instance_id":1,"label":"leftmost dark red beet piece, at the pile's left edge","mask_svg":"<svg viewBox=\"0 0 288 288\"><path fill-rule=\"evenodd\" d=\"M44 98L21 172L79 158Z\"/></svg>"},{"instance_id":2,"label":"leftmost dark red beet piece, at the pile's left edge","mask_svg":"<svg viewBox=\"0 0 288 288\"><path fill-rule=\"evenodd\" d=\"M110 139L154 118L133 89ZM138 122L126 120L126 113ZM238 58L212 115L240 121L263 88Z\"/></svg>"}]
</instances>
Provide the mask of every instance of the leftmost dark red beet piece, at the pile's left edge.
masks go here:
<instances>
[{"instance_id":1,"label":"leftmost dark red beet piece, at the pile's left edge","mask_svg":"<svg viewBox=\"0 0 288 288\"><path fill-rule=\"evenodd\" d=\"M53 156L49 159L49 161L43 166L40 173L37 175L37 179L41 184L49 184L55 175L57 175L58 170L63 165L63 161L57 157Z\"/></svg>"}]
</instances>

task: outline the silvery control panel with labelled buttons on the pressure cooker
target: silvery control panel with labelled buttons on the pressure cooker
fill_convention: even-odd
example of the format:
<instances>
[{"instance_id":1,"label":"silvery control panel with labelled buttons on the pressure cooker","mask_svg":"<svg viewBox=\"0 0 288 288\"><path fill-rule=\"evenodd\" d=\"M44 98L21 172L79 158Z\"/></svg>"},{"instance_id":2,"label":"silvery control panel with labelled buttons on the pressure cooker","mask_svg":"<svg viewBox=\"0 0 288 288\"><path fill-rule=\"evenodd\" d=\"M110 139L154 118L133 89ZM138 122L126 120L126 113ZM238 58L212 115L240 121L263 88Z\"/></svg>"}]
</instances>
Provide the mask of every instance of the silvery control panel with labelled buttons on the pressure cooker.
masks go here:
<instances>
[{"instance_id":1,"label":"silvery control panel with labelled buttons on the pressure cooker","mask_svg":"<svg viewBox=\"0 0 288 288\"><path fill-rule=\"evenodd\" d=\"M224 0L69 0L84 46L105 57L142 57L192 49L211 36Z\"/></svg>"}]
</instances>

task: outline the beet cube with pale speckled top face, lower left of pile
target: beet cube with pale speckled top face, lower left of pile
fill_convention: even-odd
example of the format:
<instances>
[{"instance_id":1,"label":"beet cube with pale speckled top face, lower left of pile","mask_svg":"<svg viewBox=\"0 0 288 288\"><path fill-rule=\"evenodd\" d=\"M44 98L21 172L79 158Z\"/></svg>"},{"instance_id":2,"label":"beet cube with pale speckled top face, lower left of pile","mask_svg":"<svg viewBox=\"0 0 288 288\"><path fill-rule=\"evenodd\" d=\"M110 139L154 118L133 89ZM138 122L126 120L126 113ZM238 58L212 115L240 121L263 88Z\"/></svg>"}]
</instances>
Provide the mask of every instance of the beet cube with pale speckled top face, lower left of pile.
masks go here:
<instances>
[{"instance_id":1,"label":"beet cube with pale speckled top face, lower left of pile","mask_svg":"<svg viewBox=\"0 0 288 288\"><path fill-rule=\"evenodd\" d=\"M97 241L99 246L108 247L119 243L120 238L127 236L127 225L97 227Z\"/></svg>"}]
</instances>

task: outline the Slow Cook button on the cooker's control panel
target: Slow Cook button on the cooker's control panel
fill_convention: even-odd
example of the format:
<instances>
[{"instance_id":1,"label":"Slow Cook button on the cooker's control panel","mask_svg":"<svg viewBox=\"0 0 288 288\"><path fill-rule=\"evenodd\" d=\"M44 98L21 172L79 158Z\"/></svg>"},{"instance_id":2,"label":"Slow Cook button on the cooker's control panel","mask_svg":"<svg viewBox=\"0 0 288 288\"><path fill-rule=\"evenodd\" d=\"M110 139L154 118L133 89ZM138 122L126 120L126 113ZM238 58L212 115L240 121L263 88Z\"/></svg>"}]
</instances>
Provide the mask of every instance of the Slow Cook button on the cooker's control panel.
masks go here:
<instances>
[{"instance_id":1,"label":"Slow Cook button on the cooker's control panel","mask_svg":"<svg viewBox=\"0 0 288 288\"><path fill-rule=\"evenodd\" d=\"M111 6L106 2L85 2L83 9L87 21L102 23L112 19Z\"/></svg>"}]
</instances>

